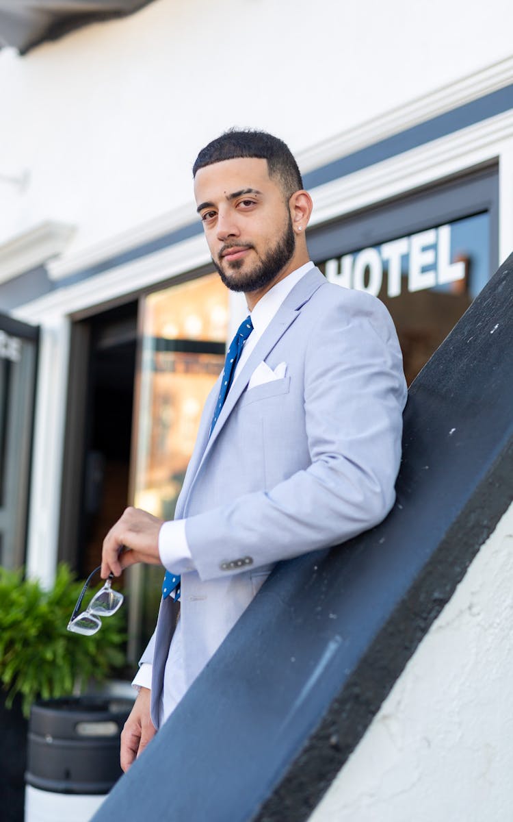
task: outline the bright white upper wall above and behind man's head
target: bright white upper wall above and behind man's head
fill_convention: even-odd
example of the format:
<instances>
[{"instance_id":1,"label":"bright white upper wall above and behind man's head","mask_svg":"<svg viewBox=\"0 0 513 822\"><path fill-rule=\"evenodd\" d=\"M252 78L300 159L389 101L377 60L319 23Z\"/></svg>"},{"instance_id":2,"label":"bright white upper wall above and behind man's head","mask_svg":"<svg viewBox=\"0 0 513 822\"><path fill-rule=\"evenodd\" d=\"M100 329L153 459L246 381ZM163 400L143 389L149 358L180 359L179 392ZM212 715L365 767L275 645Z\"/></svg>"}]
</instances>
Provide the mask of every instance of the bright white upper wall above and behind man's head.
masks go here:
<instances>
[{"instance_id":1,"label":"bright white upper wall above and behind man's head","mask_svg":"<svg viewBox=\"0 0 513 822\"><path fill-rule=\"evenodd\" d=\"M0 52L0 244L43 219L78 252L191 201L233 124L301 152L511 55L509 0L158 0L24 58ZM190 211L192 216L193 211Z\"/></svg>"}]
</instances>

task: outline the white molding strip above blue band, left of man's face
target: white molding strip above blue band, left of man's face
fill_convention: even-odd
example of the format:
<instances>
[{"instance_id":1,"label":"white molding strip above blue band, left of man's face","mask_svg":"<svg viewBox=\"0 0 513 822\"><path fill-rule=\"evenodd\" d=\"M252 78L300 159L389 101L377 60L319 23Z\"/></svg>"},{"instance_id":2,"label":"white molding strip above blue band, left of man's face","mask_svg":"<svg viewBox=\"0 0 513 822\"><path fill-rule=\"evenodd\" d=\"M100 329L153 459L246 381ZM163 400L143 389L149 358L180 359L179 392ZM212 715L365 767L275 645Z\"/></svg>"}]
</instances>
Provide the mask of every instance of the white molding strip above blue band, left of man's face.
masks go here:
<instances>
[{"instance_id":1,"label":"white molding strip above blue band, left of man's face","mask_svg":"<svg viewBox=\"0 0 513 822\"><path fill-rule=\"evenodd\" d=\"M71 252L52 261L47 266L48 276L50 279L59 280L75 274L76 271L97 266L110 257L124 254L131 248L137 248L167 233L178 231L190 225L197 217L194 201L191 200L172 211L167 211L166 214L145 220L144 223L101 242L96 242L93 246Z\"/></svg>"}]
</instances>

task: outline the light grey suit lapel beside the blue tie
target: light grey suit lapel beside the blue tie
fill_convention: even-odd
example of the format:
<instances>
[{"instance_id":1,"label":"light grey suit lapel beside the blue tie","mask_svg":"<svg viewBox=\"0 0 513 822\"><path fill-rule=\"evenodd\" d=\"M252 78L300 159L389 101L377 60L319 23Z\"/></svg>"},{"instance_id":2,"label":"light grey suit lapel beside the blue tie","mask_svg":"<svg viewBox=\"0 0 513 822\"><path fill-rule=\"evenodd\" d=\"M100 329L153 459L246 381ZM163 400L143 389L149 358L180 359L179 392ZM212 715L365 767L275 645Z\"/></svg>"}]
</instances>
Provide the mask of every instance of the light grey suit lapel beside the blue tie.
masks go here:
<instances>
[{"instance_id":1,"label":"light grey suit lapel beside the blue tie","mask_svg":"<svg viewBox=\"0 0 513 822\"><path fill-rule=\"evenodd\" d=\"M208 431L212 420L215 399L217 399L219 390L218 383L216 383L217 393L215 393L215 395L211 395L214 396L213 402L208 403L208 406L211 406L211 408L207 408L207 405L205 405L195 450L190 459L189 468L187 469L186 480L184 481L184 486L181 492L181 500L183 500L183 503L180 505L180 516L185 514L190 490L194 485L195 478L198 476L198 473L204 464L205 458L212 449L215 441L218 439L218 436L227 422L231 411L234 409L237 400L240 398L240 395L248 385L254 369L268 356L277 344L277 341L281 339L286 333L286 330L290 328L291 324L299 315L301 308L305 305L305 302L308 302L317 289L325 282L326 279L324 279L323 274L321 274L318 268L313 268L300 279L299 283L295 284L294 288L291 290L291 293L287 294L286 298L282 302L282 305L278 308L277 313L273 316L273 319L263 332L263 335L260 337L253 351L250 353L250 356L245 365L242 367L236 381L228 391L227 399L225 400L221 413L218 417L218 422L213 429L212 436L208 439ZM176 519L179 519L179 517L176 516Z\"/></svg>"}]
</instances>

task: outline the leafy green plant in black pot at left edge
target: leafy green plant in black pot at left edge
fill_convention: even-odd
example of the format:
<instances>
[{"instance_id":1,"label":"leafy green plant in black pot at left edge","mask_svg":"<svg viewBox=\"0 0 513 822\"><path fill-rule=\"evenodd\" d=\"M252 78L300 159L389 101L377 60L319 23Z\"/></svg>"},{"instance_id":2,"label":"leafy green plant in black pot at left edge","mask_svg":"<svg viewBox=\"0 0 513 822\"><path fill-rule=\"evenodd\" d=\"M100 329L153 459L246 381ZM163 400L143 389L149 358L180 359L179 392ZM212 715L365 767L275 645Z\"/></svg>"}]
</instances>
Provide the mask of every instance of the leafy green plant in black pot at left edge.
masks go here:
<instances>
[{"instance_id":1,"label":"leafy green plant in black pot at left edge","mask_svg":"<svg viewBox=\"0 0 513 822\"><path fill-rule=\"evenodd\" d=\"M30 706L84 693L126 662L125 609L103 619L93 636L66 630L81 589L65 565L50 590L0 566L0 794L9 800L9 820L22 819Z\"/></svg>"}]
</instances>

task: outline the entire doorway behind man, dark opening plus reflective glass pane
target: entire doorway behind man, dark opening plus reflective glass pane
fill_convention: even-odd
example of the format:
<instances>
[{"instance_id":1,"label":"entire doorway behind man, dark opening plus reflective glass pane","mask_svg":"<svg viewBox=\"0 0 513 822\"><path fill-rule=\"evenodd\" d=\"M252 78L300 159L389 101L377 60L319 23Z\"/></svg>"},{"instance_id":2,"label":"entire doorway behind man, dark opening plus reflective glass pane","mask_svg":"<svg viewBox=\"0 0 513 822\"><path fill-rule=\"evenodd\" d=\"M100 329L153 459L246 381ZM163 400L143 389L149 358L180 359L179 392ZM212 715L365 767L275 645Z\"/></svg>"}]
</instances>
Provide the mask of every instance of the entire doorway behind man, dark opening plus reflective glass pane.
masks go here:
<instances>
[{"instance_id":1,"label":"entire doorway behind man, dark opening plus reflective glass pane","mask_svg":"<svg viewBox=\"0 0 513 822\"><path fill-rule=\"evenodd\" d=\"M228 319L227 289L208 272L74 324L59 558L80 578L128 504L172 519ZM134 566L119 580L131 662L153 632L162 576Z\"/></svg>"}]
</instances>

